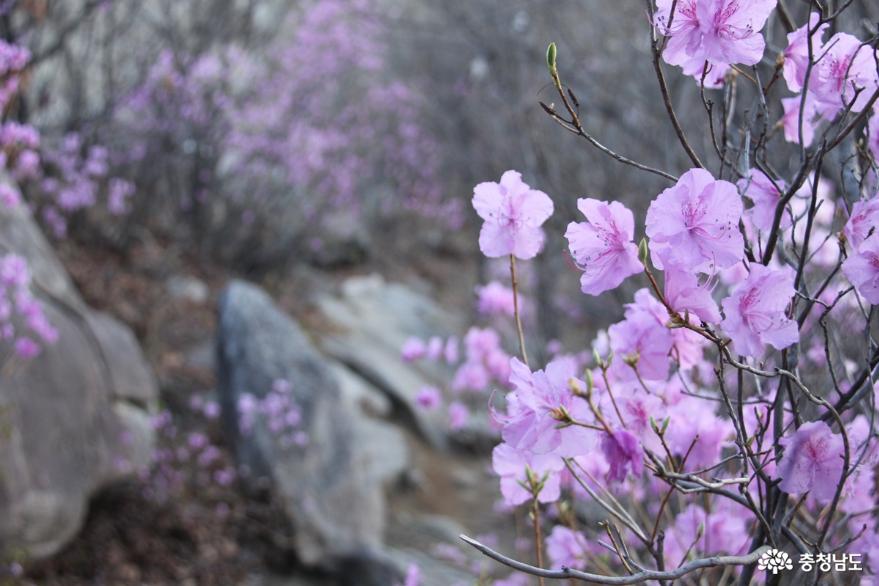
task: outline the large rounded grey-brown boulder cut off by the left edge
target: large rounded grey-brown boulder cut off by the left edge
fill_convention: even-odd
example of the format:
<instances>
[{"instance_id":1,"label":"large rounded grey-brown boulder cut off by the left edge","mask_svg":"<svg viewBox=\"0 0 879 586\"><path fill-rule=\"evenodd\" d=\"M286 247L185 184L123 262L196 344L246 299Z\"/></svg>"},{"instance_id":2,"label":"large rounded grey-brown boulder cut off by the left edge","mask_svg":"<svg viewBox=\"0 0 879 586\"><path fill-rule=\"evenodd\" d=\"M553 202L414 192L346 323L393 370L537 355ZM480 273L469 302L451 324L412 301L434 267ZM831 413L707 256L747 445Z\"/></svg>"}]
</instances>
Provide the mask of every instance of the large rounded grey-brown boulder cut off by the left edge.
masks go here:
<instances>
[{"instance_id":1,"label":"large rounded grey-brown boulder cut off by the left edge","mask_svg":"<svg viewBox=\"0 0 879 586\"><path fill-rule=\"evenodd\" d=\"M150 461L158 389L131 331L88 308L23 206L0 209L0 254L24 256L59 332L0 377L0 559L58 551L89 498Z\"/></svg>"}]
</instances>

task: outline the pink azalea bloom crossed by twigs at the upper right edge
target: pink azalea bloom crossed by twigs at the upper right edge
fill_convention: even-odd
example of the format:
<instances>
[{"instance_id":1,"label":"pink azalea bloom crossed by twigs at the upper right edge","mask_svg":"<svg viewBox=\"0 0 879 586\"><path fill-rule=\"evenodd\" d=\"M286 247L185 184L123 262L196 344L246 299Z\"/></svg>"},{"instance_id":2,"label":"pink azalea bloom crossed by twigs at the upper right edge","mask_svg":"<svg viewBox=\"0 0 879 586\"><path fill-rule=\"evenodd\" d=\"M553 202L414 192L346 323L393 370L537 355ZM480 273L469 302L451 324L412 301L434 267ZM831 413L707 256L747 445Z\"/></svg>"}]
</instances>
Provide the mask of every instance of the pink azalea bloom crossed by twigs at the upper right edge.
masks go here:
<instances>
[{"instance_id":1,"label":"pink azalea bloom crossed by twigs at the upper right edge","mask_svg":"<svg viewBox=\"0 0 879 586\"><path fill-rule=\"evenodd\" d=\"M813 68L809 91L815 96L816 107L826 119L836 116L854 100L853 112L863 110L879 85L876 62L869 45L852 35L837 33L823 47ZM855 92L861 90L857 98Z\"/></svg>"}]
</instances>

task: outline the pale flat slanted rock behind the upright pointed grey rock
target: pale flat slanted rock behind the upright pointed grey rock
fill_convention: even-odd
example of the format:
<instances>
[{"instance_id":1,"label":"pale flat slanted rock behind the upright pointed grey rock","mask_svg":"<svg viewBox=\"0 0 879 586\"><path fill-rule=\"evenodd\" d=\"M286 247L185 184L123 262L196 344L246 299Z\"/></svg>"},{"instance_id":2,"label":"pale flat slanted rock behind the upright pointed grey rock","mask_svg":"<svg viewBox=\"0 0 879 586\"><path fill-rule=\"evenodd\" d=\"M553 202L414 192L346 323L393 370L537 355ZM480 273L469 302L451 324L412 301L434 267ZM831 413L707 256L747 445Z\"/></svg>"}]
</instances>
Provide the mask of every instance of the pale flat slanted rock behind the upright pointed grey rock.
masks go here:
<instances>
[{"instance_id":1,"label":"pale flat slanted rock behind the upright pointed grey rock","mask_svg":"<svg viewBox=\"0 0 879 586\"><path fill-rule=\"evenodd\" d=\"M445 412L426 412L415 397L423 386L444 386L451 373L423 361L407 364L400 349L411 336L447 336L460 332L461 324L428 297L378 275L350 278L341 295L320 297L317 305L337 326L323 336L323 349L387 394L422 437L445 445Z\"/></svg>"}]
</instances>

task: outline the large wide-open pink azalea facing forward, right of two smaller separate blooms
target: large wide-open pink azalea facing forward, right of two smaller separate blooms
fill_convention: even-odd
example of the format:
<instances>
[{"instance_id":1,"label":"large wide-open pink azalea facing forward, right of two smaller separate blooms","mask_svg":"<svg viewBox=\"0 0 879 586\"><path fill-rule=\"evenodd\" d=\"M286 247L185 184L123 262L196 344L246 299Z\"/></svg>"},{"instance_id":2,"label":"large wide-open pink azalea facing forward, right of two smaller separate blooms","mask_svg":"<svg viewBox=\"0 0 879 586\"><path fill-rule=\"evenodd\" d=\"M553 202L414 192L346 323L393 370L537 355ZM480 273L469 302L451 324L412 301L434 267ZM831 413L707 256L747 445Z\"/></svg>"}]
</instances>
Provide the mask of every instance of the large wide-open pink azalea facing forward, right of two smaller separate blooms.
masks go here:
<instances>
[{"instance_id":1,"label":"large wide-open pink azalea facing forward, right of two smaller separate blooms","mask_svg":"<svg viewBox=\"0 0 879 586\"><path fill-rule=\"evenodd\" d=\"M704 169L687 171L647 210L654 264L662 268L660 253L667 251L669 260L692 270L732 266L744 255L738 228L742 212L735 185L715 181Z\"/></svg>"}]
</instances>

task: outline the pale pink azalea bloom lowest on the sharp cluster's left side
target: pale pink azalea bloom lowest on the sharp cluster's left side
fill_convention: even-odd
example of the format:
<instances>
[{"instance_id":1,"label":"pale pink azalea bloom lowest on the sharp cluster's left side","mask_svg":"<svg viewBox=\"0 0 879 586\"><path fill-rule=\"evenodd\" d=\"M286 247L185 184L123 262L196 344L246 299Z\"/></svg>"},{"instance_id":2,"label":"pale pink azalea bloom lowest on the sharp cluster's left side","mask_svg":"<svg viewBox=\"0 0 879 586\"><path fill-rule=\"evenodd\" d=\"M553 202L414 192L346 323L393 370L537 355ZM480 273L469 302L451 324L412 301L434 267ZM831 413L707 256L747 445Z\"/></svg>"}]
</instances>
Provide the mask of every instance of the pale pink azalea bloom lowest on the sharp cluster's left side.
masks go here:
<instances>
[{"instance_id":1,"label":"pale pink azalea bloom lowest on the sharp cluster's left side","mask_svg":"<svg viewBox=\"0 0 879 586\"><path fill-rule=\"evenodd\" d=\"M537 495L542 503L558 500L561 493L561 471L564 461L554 455L523 454L512 446L501 443L491 453L491 465L495 474L501 477L501 495L509 506L521 505L531 500L527 470L538 481L544 480L543 489Z\"/></svg>"}]
</instances>

